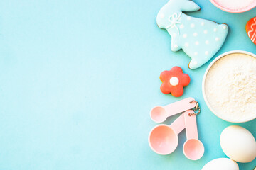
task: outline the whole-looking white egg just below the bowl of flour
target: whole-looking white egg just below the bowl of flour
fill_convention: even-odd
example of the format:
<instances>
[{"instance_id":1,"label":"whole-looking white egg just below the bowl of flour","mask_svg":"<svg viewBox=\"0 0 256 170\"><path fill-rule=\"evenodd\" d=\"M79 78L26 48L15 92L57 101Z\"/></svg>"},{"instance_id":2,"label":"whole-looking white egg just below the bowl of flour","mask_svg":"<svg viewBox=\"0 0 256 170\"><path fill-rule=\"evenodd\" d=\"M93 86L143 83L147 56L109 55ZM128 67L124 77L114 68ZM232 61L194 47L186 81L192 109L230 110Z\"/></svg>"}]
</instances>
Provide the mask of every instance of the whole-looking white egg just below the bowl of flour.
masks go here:
<instances>
[{"instance_id":1,"label":"whole-looking white egg just below the bowl of flour","mask_svg":"<svg viewBox=\"0 0 256 170\"><path fill-rule=\"evenodd\" d=\"M223 152L236 162L252 162L256 157L256 141L252 134L238 125L225 128L220 135Z\"/></svg>"}]
</instances>

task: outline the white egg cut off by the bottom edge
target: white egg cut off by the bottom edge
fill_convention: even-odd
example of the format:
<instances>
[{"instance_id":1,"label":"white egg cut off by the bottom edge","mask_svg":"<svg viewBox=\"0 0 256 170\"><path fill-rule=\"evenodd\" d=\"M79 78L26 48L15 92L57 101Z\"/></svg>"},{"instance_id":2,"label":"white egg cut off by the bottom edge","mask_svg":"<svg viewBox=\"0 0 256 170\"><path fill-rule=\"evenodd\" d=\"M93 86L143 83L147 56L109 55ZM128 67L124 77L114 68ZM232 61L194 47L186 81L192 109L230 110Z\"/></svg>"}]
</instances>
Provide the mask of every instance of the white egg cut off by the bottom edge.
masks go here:
<instances>
[{"instance_id":1,"label":"white egg cut off by the bottom edge","mask_svg":"<svg viewBox=\"0 0 256 170\"><path fill-rule=\"evenodd\" d=\"M218 158L208 162L202 170L239 170L239 166L231 159Z\"/></svg>"}]
</instances>

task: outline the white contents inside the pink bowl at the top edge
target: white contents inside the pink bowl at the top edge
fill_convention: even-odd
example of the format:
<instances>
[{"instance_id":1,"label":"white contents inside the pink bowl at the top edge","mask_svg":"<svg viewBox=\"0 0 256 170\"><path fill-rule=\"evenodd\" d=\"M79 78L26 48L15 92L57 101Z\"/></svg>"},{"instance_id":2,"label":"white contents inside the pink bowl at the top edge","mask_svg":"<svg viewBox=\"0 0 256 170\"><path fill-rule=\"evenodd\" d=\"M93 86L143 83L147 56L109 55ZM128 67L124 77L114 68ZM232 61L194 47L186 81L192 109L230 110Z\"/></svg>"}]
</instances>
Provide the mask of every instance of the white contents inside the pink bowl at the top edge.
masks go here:
<instances>
[{"instance_id":1,"label":"white contents inside the pink bowl at the top edge","mask_svg":"<svg viewBox=\"0 0 256 170\"><path fill-rule=\"evenodd\" d=\"M217 4L229 9L241 9L250 6L255 0L215 0Z\"/></svg>"}]
</instances>

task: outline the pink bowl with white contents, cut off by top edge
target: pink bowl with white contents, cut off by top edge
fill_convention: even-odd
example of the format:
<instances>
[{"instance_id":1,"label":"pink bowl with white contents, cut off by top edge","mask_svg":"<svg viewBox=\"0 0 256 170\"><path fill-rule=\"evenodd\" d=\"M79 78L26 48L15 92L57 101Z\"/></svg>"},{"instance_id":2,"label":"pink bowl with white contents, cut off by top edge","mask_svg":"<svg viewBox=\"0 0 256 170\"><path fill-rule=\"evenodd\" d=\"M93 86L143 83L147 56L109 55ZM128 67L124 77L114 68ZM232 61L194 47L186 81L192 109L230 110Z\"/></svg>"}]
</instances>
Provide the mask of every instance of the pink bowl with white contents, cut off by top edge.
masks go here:
<instances>
[{"instance_id":1,"label":"pink bowl with white contents, cut off by top edge","mask_svg":"<svg viewBox=\"0 0 256 170\"><path fill-rule=\"evenodd\" d=\"M229 13L242 13L256 7L256 0L210 0L210 2Z\"/></svg>"}]
</instances>

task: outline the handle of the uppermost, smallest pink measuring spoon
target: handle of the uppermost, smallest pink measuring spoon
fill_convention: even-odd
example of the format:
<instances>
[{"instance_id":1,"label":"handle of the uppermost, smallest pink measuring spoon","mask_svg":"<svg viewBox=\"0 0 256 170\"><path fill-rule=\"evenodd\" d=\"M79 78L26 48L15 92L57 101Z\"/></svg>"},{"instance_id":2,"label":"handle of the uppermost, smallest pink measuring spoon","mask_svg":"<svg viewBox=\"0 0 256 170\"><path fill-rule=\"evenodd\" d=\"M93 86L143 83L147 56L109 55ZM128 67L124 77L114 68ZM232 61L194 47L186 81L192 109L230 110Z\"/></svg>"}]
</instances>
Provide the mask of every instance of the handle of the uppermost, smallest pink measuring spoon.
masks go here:
<instances>
[{"instance_id":1,"label":"handle of the uppermost, smallest pink measuring spoon","mask_svg":"<svg viewBox=\"0 0 256 170\"><path fill-rule=\"evenodd\" d=\"M194 102L192 102L194 101ZM176 115L188 109L194 108L196 106L196 100L194 98L185 98L181 101L176 101L169 105L164 106L167 116Z\"/></svg>"}]
</instances>

